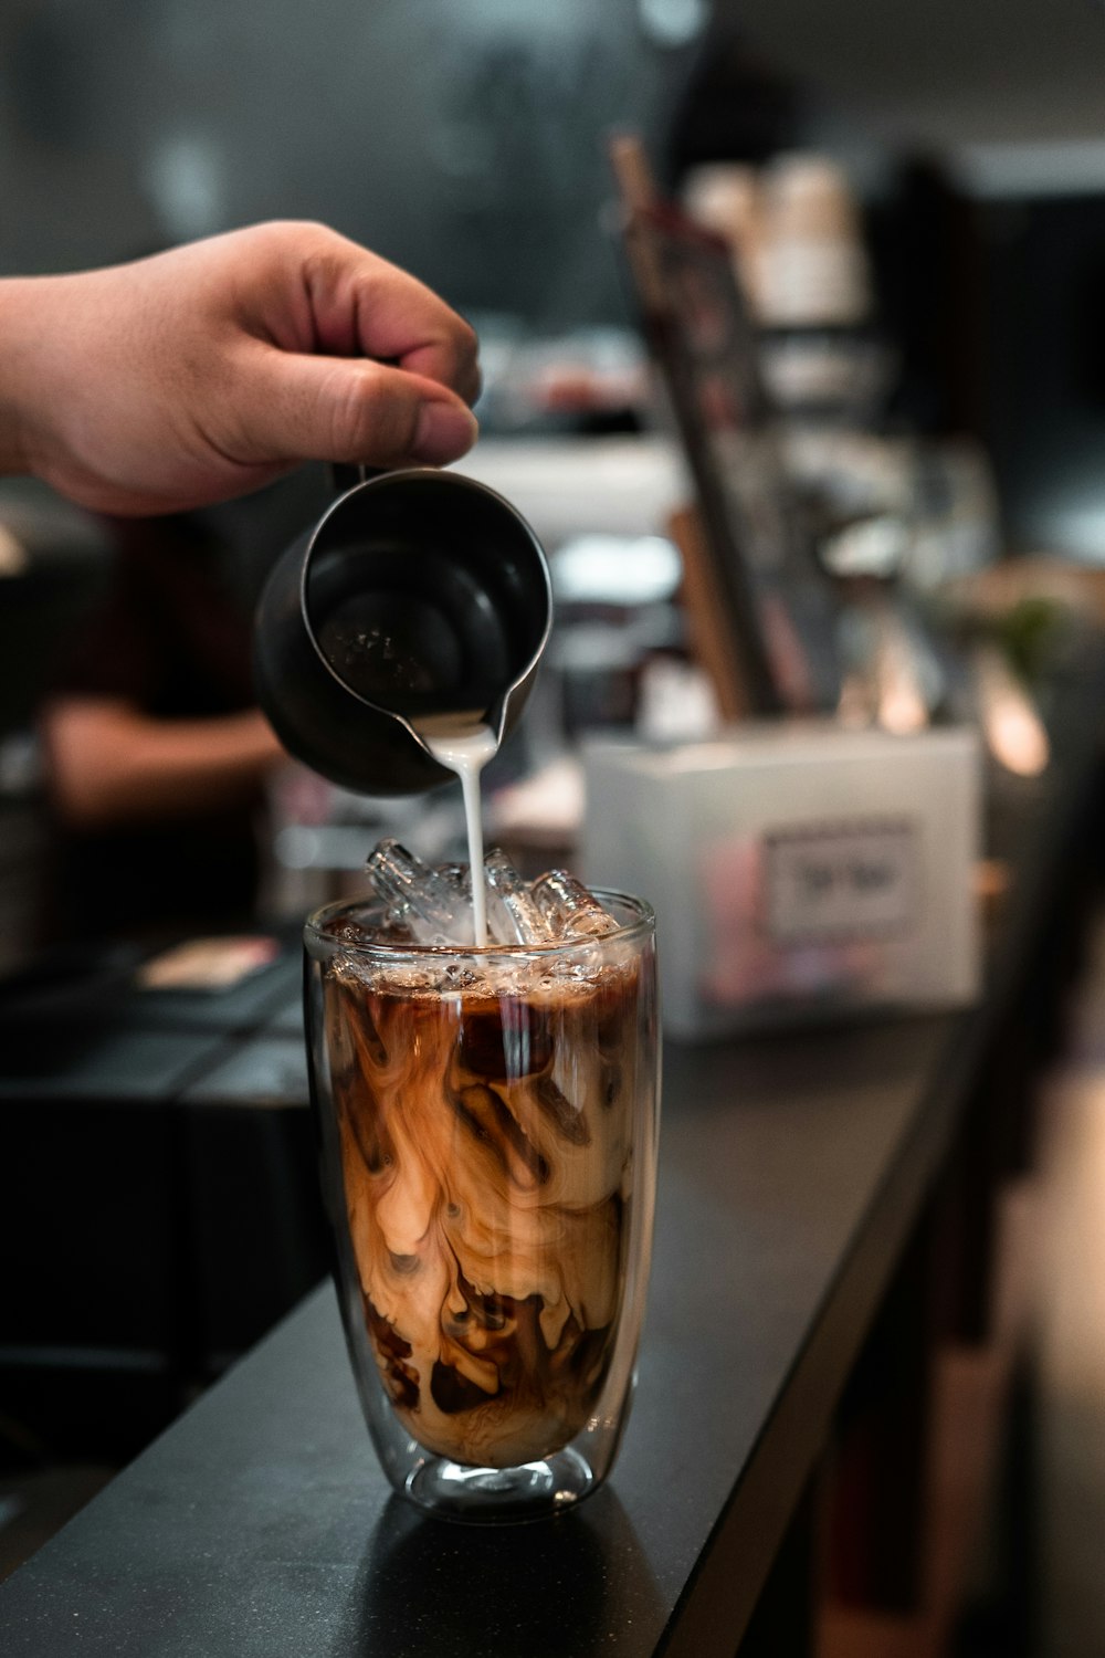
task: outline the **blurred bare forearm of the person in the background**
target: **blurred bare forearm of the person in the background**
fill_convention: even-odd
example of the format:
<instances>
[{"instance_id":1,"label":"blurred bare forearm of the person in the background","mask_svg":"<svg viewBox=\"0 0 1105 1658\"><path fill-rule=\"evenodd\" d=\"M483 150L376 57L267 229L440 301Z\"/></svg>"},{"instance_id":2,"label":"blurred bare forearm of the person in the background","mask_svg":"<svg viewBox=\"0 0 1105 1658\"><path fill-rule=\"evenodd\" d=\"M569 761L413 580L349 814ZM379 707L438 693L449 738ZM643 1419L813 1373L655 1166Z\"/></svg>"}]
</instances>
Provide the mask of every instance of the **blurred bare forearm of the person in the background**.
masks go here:
<instances>
[{"instance_id":1,"label":"blurred bare forearm of the person in the background","mask_svg":"<svg viewBox=\"0 0 1105 1658\"><path fill-rule=\"evenodd\" d=\"M60 703L43 736L58 811L70 824L156 822L234 806L282 748L255 711L149 720L124 703Z\"/></svg>"}]
</instances>

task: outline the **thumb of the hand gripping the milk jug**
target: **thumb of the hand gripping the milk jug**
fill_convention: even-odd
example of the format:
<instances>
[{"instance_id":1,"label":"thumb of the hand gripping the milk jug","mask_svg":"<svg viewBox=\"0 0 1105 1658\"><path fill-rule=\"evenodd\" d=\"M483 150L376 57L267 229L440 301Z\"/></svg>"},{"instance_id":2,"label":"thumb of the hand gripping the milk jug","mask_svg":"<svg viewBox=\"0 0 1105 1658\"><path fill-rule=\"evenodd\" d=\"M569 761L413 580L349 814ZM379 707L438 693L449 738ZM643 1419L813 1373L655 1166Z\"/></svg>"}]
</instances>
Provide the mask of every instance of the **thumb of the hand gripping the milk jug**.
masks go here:
<instances>
[{"instance_id":1,"label":"thumb of the hand gripping the milk jug","mask_svg":"<svg viewBox=\"0 0 1105 1658\"><path fill-rule=\"evenodd\" d=\"M237 421L249 461L348 461L442 466L479 434L447 386L371 358L265 348L260 373L239 378ZM232 444L240 451L242 444Z\"/></svg>"}]
</instances>

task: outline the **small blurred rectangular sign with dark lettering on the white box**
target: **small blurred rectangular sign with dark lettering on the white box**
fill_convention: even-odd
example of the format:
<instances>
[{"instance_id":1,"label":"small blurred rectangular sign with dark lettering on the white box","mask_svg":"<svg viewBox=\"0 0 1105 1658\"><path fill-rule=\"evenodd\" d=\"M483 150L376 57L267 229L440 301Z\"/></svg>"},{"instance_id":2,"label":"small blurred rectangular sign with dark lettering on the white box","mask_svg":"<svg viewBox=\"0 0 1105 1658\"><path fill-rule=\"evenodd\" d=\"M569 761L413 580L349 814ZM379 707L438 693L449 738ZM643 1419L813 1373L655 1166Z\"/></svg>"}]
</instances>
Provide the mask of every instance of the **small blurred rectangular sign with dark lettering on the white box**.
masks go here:
<instances>
[{"instance_id":1,"label":"small blurred rectangular sign with dark lettering on the white box","mask_svg":"<svg viewBox=\"0 0 1105 1658\"><path fill-rule=\"evenodd\" d=\"M885 938L918 914L918 824L861 819L764 836L765 925L779 943Z\"/></svg>"}]
</instances>

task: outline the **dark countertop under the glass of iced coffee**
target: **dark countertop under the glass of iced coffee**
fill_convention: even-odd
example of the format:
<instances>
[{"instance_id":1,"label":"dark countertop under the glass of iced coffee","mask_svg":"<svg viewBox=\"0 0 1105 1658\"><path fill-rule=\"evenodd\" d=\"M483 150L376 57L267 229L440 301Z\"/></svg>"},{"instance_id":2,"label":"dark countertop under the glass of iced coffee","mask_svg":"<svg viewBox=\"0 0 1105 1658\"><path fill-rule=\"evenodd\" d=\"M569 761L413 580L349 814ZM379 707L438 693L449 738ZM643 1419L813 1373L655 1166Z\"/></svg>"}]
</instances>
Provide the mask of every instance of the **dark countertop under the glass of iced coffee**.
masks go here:
<instances>
[{"instance_id":1,"label":"dark countertop under the glass of iced coffee","mask_svg":"<svg viewBox=\"0 0 1105 1658\"><path fill-rule=\"evenodd\" d=\"M895 1180L924 1177L954 1023L669 1048L639 1389L578 1510L484 1530L393 1497L325 1288L0 1590L0 1650L732 1651L890 1268L886 1204L913 1207Z\"/></svg>"}]
</instances>

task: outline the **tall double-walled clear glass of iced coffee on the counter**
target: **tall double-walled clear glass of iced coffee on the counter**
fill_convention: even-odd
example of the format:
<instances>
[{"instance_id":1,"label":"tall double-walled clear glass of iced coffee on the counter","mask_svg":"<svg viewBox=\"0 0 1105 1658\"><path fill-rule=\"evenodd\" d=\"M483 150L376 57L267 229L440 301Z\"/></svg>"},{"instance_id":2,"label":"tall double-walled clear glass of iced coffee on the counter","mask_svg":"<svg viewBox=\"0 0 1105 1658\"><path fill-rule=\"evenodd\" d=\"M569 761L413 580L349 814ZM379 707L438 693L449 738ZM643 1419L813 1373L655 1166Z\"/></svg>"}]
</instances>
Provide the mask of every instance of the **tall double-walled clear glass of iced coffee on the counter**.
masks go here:
<instances>
[{"instance_id":1,"label":"tall double-walled clear glass of iced coffee on the counter","mask_svg":"<svg viewBox=\"0 0 1105 1658\"><path fill-rule=\"evenodd\" d=\"M558 945L305 928L311 1094L346 1341L396 1491L462 1520L565 1509L626 1424L653 1237L654 917Z\"/></svg>"}]
</instances>

